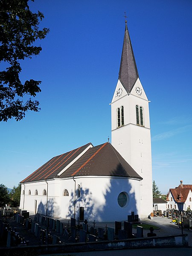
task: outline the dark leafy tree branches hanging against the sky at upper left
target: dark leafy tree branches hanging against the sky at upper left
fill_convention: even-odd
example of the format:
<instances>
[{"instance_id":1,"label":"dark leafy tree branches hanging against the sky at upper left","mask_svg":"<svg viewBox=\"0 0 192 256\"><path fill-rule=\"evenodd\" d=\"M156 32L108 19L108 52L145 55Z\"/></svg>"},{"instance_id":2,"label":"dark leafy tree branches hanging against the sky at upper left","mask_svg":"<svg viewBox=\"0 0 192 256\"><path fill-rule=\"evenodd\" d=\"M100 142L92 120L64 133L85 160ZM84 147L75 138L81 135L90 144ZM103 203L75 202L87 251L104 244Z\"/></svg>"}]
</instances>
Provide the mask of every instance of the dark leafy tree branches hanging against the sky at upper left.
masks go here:
<instances>
[{"instance_id":1,"label":"dark leafy tree branches hanging against the sky at upper left","mask_svg":"<svg viewBox=\"0 0 192 256\"><path fill-rule=\"evenodd\" d=\"M32 13L28 1L0 0L0 62L5 62L0 71L0 121L12 117L18 121L26 111L40 110L39 102L28 97L41 92L41 81L30 79L22 83L20 60L40 53L42 48L35 46L35 41L44 39L49 29L39 30L44 15Z\"/></svg>"}]
</instances>

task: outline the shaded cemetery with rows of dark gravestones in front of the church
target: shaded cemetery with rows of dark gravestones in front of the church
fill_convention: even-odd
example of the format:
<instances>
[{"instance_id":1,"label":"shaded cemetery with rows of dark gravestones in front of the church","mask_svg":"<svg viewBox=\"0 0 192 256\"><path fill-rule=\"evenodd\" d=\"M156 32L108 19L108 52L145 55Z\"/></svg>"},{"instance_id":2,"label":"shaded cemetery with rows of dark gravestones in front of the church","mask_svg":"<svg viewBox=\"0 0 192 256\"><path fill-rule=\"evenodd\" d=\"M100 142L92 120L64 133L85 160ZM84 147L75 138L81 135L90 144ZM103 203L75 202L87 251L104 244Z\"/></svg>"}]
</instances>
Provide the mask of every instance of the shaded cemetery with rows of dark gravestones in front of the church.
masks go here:
<instances>
[{"instance_id":1,"label":"shaded cemetery with rows of dark gravestones in front of the church","mask_svg":"<svg viewBox=\"0 0 192 256\"><path fill-rule=\"evenodd\" d=\"M187 246L187 235L157 237L152 227L147 237L143 236L139 216L131 212L127 221L115 221L113 227L99 226L95 221L75 218L63 220L44 215L29 215L26 210L18 210L12 217L0 218L0 253L7 250L38 250L44 254L53 252L74 252L87 250L111 250L145 247ZM132 225L137 225L133 230ZM23 247L25 249L23 249Z\"/></svg>"}]
</instances>

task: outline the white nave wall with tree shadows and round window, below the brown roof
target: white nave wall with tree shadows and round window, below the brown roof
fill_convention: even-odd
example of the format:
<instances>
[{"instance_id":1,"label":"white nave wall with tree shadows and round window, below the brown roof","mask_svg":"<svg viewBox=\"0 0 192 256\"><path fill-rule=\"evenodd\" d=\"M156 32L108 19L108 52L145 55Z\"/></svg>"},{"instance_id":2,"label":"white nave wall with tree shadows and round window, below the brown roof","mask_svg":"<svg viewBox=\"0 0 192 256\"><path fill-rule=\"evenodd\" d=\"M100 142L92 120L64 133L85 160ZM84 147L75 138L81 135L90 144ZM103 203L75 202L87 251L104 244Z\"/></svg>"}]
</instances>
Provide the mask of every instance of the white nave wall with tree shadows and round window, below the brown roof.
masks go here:
<instances>
[{"instance_id":1,"label":"white nave wall with tree shadows and round window, below the brown roof","mask_svg":"<svg viewBox=\"0 0 192 256\"><path fill-rule=\"evenodd\" d=\"M52 217L78 219L79 207L84 207L84 218L89 221L123 221L127 220L127 215L130 215L131 211L139 213L139 180L95 176L47 180L47 183L41 181L22 184L20 208L31 213L35 213L36 209L36 212ZM48 193L43 195L44 189L47 192L47 187ZM65 189L69 196L64 196ZM31 195L28 195L29 190ZM38 191L38 195L35 195L35 190ZM117 201L121 192L128 196L125 207L120 207Z\"/></svg>"}]
</instances>

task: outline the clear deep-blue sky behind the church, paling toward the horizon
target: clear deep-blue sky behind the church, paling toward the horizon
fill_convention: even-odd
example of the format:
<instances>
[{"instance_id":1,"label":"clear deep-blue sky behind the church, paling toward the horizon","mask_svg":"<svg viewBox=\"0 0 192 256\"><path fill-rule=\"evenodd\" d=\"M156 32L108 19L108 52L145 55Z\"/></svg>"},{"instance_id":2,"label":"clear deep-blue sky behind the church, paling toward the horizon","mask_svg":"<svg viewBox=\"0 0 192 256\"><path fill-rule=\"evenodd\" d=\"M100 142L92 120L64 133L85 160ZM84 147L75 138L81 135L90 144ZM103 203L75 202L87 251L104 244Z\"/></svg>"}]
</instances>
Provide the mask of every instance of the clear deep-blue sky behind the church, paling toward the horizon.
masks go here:
<instances>
[{"instance_id":1,"label":"clear deep-blue sky behind the church, paling toward the horizon","mask_svg":"<svg viewBox=\"0 0 192 256\"><path fill-rule=\"evenodd\" d=\"M50 29L43 50L21 62L41 80L39 113L0 123L0 183L12 188L55 155L111 141L128 16L140 81L150 103L153 180L162 193L192 184L192 1L35 0Z\"/></svg>"}]
</instances>

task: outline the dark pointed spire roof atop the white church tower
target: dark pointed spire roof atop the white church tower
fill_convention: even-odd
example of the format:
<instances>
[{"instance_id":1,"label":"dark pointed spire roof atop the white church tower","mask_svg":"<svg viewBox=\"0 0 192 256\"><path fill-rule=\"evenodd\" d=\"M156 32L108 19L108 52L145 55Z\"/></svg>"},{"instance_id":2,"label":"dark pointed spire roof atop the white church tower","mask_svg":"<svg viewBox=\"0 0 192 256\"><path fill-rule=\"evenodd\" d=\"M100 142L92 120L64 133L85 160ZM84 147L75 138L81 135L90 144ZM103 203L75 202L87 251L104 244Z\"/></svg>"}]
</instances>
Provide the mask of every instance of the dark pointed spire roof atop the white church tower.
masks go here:
<instances>
[{"instance_id":1,"label":"dark pointed spire roof atop the white church tower","mask_svg":"<svg viewBox=\"0 0 192 256\"><path fill-rule=\"evenodd\" d=\"M130 93L138 77L139 74L137 71L131 39L127 28L127 20L125 20L125 35L119 69L119 80L127 92Z\"/></svg>"}]
</instances>

